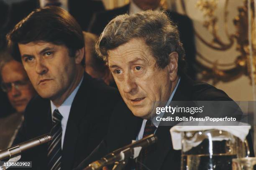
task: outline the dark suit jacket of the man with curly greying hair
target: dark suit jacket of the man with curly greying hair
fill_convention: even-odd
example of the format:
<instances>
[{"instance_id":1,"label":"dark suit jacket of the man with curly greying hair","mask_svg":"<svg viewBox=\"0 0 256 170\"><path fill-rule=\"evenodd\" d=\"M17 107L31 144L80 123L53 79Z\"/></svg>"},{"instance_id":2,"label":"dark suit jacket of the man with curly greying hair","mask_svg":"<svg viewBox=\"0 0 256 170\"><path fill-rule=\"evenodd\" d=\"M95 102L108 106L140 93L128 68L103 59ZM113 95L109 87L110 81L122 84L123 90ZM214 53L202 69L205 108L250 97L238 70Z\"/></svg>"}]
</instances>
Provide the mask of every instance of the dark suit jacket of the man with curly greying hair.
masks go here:
<instances>
[{"instance_id":1,"label":"dark suit jacket of the man with curly greying hair","mask_svg":"<svg viewBox=\"0 0 256 170\"><path fill-rule=\"evenodd\" d=\"M225 92L203 82L195 82L188 77L182 77L172 101L202 101L202 100L231 100ZM141 128L142 119L136 117L122 102L115 108L110 119L108 135L100 145L75 170L81 170L95 160L99 160L107 153L121 148L136 139ZM170 128L159 126L156 130L158 141L154 150L143 162L149 170L180 170L181 152L172 148ZM248 135L249 136L249 135ZM251 139L249 138L251 141ZM253 147L250 143L251 156ZM126 165L131 170L131 164Z\"/></svg>"}]
</instances>

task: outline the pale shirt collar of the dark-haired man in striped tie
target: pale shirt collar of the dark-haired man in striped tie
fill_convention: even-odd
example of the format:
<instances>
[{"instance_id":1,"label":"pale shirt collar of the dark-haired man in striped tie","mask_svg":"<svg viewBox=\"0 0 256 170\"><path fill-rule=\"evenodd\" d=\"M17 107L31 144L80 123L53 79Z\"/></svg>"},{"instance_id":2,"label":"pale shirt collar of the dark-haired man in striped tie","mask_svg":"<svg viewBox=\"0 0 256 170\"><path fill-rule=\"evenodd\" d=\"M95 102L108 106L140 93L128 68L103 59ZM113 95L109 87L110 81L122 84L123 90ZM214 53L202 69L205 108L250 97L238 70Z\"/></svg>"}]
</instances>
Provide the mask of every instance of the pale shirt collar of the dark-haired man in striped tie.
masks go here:
<instances>
[{"instance_id":1,"label":"pale shirt collar of the dark-haired man in striped tie","mask_svg":"<svg viewBox=\"0 0 256 170\"><path fill-rule=\"evenodd\" d=\"M69 95L69 97L67 97L67 99L59 106L59 107L56 107L54 105L54 103L51 101L51 115L53 114L54 110L55 109L58 109L60 114L62 115L62 120L68 120L69 118L69 112L70 112L70 109L71 109L71 105L72 105L72 102L74 100L74 97L76 96L77 94L77 91L79 89L79 87L81 86L81 83L82 83L82 80L83 80L84 76L82 77L82 79L80 80L79 84L77 85L77 87L74 89L74 91Z\"/></svg>"}]
</instances>

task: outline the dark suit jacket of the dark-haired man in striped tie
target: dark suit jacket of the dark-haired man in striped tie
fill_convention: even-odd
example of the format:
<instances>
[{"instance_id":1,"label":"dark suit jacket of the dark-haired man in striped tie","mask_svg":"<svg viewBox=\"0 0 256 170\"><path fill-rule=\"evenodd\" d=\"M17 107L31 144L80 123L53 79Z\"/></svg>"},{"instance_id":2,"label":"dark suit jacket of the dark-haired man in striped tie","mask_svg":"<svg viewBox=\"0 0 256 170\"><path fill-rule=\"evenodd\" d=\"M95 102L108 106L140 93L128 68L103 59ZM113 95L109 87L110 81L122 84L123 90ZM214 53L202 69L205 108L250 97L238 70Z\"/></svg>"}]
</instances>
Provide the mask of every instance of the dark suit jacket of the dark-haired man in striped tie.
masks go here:
<instances>
[{"instance_id":1,"label":"dark suit jacket of the dark-haired man in striped tie","mask_svg":"<svg viewBox=\"0 0 256 170\"><path fill-rule=\"evenodd\" d=\"M100 143L108 130L110 113L119 102L115 88L108 87L84 73L72 102L62 149L61 170L71 170ZM51 130L50 100L35 97L26 108L25 120L15 144L49 133ZM33 170L46 170L48 144L22 154L22 160L32 161Z\"/></svg>"}]
</instances>

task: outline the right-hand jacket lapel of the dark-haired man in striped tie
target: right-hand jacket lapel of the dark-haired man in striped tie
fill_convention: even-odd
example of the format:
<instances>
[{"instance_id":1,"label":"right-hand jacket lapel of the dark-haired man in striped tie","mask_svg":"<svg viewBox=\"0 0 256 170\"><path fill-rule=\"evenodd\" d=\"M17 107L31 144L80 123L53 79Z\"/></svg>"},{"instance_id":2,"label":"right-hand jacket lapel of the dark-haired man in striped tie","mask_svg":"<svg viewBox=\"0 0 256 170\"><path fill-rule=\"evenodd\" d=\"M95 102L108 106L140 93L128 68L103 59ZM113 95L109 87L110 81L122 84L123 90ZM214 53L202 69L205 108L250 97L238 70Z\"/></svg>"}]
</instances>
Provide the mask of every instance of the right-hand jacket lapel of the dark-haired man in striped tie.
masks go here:
<instances>
[{"instance_id":1,"label":"right-hand jacket lapel of the dark-haired man in striped tie","mask_svg":"<svg viewBox=\"0 0 256 170\"><path fill-rule=\"evenodd\" d=\"M61 169L70 170L73 167L77 138L79 135L79 125L82 116L86 113L88 99L90 98L90 91L87 87L87 75L84 74L81 86L77 91L76 96L72 102L72 106L69 112L69 119L67 122L67 128L64 137Z\"/></svg>"}]
</instances>

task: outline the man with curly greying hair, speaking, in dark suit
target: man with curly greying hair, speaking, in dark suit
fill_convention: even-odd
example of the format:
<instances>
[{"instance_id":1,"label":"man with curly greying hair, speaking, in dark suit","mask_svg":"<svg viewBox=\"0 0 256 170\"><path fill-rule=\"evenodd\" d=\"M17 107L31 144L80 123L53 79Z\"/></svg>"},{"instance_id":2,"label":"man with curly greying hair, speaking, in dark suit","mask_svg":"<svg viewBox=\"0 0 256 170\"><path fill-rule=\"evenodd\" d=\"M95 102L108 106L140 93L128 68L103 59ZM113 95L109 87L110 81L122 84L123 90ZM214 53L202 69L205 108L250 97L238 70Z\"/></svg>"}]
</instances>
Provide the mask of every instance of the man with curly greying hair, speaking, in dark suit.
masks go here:
<instances>
[{"instance_id":1,"label":"man with curly greying hair, speaking, in dark suit","mask_svg":"<svg viewBox=\"0 0 256 170\"><path fill-rule=\"evenodd\" d=\"M135 163L128 160L125 169L179 170L181 152L172 147L172 125L151 122L156 108L171 101L222 101L230 97L185 74L179 32L164 13L120 15L106 26L96 47L107 61L124 102L115 108L106 138L76 170L152 133L158 138L156 145L143 148Z\"/></svg>"}]
</instances>

